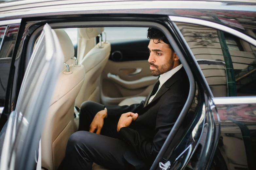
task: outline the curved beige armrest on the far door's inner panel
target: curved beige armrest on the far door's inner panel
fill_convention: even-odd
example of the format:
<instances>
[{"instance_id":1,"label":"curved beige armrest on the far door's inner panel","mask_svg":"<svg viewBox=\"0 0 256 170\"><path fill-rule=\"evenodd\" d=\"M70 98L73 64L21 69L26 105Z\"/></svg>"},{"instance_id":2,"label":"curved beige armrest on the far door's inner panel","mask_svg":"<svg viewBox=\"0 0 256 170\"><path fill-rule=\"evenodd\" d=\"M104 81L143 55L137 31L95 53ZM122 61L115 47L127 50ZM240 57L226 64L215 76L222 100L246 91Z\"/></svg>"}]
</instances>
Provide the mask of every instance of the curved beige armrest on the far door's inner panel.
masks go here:
<instances>
[{"instance_id":1,"label":"curved beige armrest on the far door's inner panel","mask_svg":"<svg viewBox=\"0 0 256 170\"><path fill-rule=\"evenodd\" d=\"M108 73L108 78L127 89L139 89L142 87L146 87L154 84L157 80L157 77L147 76L134 81L126 81L121 79L119 76L113 75L111 73Z\"/></svg>"}]
</instances>

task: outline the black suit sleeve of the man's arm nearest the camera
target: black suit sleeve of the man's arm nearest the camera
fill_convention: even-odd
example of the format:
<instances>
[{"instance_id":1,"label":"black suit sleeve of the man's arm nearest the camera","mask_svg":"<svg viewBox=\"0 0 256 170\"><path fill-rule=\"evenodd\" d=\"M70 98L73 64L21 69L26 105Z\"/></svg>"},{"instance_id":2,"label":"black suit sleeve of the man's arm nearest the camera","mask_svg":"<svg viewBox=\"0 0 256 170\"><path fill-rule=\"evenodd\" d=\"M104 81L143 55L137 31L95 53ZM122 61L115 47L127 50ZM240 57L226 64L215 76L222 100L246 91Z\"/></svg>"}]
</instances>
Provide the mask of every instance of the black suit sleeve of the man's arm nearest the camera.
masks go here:
<instances>
[{"instance_id":1,"label":"black suit sleeve of the man's arm nearest the camera","mask_svg":"<svg viewBox=\"0 0 256 170\"><path fill-rule=\"evenodd\" d=\"M165 101L160 106L157 114L156 133L153 139L147 139L129 127L122 127L118 134L121 140L127 142L136 154L146 161L153 162L155 160L175 121L178 119L186 99L180 95L172 95Z\"/></svg>"}]
</instances>

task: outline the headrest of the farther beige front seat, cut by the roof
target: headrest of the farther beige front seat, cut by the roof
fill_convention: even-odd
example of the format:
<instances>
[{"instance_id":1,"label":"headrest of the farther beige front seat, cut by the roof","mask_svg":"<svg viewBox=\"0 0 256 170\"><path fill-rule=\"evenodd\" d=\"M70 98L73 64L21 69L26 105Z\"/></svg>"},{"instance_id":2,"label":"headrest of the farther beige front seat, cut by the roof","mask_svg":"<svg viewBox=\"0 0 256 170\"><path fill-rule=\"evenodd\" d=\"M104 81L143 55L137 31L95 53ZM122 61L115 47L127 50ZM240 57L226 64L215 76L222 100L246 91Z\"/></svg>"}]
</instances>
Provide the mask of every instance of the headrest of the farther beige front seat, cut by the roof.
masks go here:
<instances>
[{"instance_id":1,"label":"headrest of the farther beige front seat, cut by the roof","mask_svg":"<svg viewBox=\"0 0 256 170\"><path fill-rule=\"evenodd\" d=\"M97 28L78 28L79 34L86 40L96 37L104 31L104 27Z\"/></svg>"}]
</instances>

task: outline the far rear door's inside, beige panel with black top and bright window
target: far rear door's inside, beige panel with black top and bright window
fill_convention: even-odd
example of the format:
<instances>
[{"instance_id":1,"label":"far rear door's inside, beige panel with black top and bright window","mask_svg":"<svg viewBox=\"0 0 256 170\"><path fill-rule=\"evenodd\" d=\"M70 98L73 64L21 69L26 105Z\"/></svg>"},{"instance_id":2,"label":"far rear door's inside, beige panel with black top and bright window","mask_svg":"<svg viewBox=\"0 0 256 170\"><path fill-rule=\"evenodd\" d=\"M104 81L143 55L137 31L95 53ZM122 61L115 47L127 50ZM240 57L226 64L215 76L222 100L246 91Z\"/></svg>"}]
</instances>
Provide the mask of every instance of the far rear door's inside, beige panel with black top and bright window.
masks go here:
<instances>
[{"instance_id":1,"label":"far rear door's inside, beige panel with black top and bright window","mask_svg":"<svg viewBox=\"0 0 256 170\"><path fill-rule=\"evenodd\" d=\"M156 82L157 77L151 76L147 61L147 29L105 27L106 39L111 44L111 54L101 75L103 104L119 104L134 96L144 96L140 101L144 100Z\"/></svg>"}]
</instances>

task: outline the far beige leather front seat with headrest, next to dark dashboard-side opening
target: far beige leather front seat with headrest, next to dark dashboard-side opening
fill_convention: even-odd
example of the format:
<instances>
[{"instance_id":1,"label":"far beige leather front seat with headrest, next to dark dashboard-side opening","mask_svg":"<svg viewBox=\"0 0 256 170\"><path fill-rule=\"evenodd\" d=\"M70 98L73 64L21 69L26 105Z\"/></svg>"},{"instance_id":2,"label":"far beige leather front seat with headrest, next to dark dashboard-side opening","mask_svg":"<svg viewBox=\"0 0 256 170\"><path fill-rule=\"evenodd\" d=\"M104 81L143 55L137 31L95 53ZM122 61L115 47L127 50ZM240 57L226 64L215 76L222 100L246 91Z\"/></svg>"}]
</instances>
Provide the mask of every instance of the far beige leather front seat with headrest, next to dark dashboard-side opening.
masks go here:
<instances>
[{"instance_id":1,"label":"far beige leather front seat with headrest, next to dark dashboard-side opening","mask_svg":"<svg viewBox=\"0 0 256 170\"><path fill-rule=\"evenodd\" d=\"M78 32L84 39L92 39L101 34L104 28L79 28ZM84 101L100 102L100 75L108 62L111 46L109 42L99 43L92 48L82 59L85 78L83 86L76 98L76 106L80 107Z\"/></svg>"}]
</instances>

